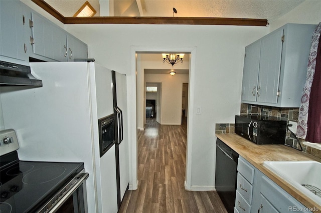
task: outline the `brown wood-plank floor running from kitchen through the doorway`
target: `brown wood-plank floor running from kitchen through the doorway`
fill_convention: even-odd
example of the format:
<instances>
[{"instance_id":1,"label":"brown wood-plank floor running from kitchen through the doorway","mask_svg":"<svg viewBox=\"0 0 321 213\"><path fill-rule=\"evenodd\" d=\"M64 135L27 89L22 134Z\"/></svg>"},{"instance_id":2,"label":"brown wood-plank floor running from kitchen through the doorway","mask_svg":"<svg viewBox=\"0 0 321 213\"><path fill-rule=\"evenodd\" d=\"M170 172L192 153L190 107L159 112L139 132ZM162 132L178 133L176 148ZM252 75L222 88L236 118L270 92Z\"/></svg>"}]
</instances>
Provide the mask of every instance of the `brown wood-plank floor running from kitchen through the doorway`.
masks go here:
<instances>
[{"instance_id":1,"label":"brown wood-plank floor running from kitchen through the doorway","mask_svg":"<svg viewBox=\"0 0 321 213\"><path fill-rule=\"evenodd\" d=\"M138 131L138 188L126 192L118 212L227 212L217 192L185 190L185 117L182 123L146 118Z\"/></svg>"}]
</instances>

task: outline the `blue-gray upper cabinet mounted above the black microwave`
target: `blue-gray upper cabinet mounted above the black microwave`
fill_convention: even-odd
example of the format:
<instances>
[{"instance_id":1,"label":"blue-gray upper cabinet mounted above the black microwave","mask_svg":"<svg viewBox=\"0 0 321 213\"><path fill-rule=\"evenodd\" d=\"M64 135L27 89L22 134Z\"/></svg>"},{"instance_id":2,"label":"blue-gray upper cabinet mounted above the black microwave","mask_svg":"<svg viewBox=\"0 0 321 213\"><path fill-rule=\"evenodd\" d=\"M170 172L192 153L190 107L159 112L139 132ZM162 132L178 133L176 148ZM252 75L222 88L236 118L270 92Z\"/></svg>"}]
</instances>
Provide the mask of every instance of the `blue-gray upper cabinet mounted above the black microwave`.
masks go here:
<instances>
[{"instance_id":1,"label":"blue-gray upper cabinet mounted above the black microwave","mask_svg":"<svg viewBox=\"0 0 321 213\"><path fill-rule=\"evenodd\" d=\"M315 27L288 23L245 47L243 103L299 107Z\"/></svg>"}]
</instances>

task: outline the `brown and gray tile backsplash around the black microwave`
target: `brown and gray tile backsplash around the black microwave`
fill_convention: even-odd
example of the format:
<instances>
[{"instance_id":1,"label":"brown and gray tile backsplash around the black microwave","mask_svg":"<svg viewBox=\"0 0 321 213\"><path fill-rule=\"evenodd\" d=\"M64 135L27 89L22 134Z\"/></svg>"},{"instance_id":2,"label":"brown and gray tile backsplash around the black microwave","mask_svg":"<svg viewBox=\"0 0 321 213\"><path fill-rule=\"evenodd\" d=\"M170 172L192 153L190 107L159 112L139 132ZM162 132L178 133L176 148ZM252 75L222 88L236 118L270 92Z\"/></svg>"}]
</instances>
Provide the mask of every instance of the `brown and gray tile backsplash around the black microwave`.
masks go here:
<instances>
[{"instance_id":1,"label":"brown and gray tile backsplash around the black microwave","mask_svg":"<svg viewBox=\"0 0 321 213\"><path fill-rule=\"evenodd\" d=\"M298 121L299 108L279 108L263 105L252 105L241 103L240 114L265 114L268 116L285 118L288 121ZM235 123L216 123L215 133L234 133ZM295 132L294 132L295 133ZM296 138L294 134L286 130L286 138L284 144L301 150L307 154L321 158L321 150L303 144L304 140Z\"/></svg>"}]
</instances>

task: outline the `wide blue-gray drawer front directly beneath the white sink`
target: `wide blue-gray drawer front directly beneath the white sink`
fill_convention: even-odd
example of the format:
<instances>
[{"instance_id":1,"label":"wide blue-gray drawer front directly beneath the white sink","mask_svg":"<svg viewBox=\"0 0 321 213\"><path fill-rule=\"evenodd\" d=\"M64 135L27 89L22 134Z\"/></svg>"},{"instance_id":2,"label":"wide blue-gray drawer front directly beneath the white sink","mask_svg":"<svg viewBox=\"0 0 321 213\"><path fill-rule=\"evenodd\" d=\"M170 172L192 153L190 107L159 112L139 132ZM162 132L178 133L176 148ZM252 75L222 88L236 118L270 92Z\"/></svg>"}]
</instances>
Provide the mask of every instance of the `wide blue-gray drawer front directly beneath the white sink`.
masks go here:
<instances>
[{"instance_id":1,"label":"wide blue-gray drawer front directly beneath the white sink","mask_svg":"<svg viewBox=\"0 0 321 213\"><path fill-rule=\"evenodd\" d=\"M280 212L288 212L290 207L307 209L289 193L284 191L280 186L274 183L266 176L261 179L261 194ZM311 212L311 211L296 211Z\"/></svg>"}]
</instances>

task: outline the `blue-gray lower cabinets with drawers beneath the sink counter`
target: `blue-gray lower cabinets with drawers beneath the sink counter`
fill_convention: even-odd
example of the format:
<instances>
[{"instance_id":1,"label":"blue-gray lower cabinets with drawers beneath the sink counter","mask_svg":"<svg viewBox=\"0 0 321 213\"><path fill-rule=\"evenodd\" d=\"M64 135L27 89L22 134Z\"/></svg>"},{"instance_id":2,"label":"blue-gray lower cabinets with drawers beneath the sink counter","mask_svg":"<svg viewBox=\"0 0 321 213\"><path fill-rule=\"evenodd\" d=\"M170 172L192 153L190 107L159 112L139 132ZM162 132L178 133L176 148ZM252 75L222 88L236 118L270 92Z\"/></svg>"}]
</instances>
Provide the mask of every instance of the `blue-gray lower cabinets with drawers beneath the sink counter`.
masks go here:
<instances>
[{"instance_id":1,"label":"blue-gray lower cabinets with drawers beneath the sink counter","mask_svg":"<svg viewBox=\"0 0 321 213\"><path fill-rule=\"evenodd\" d=\"M238 160L235 213L311 212L242 156Z\"/></svg>"}]
</instances>

